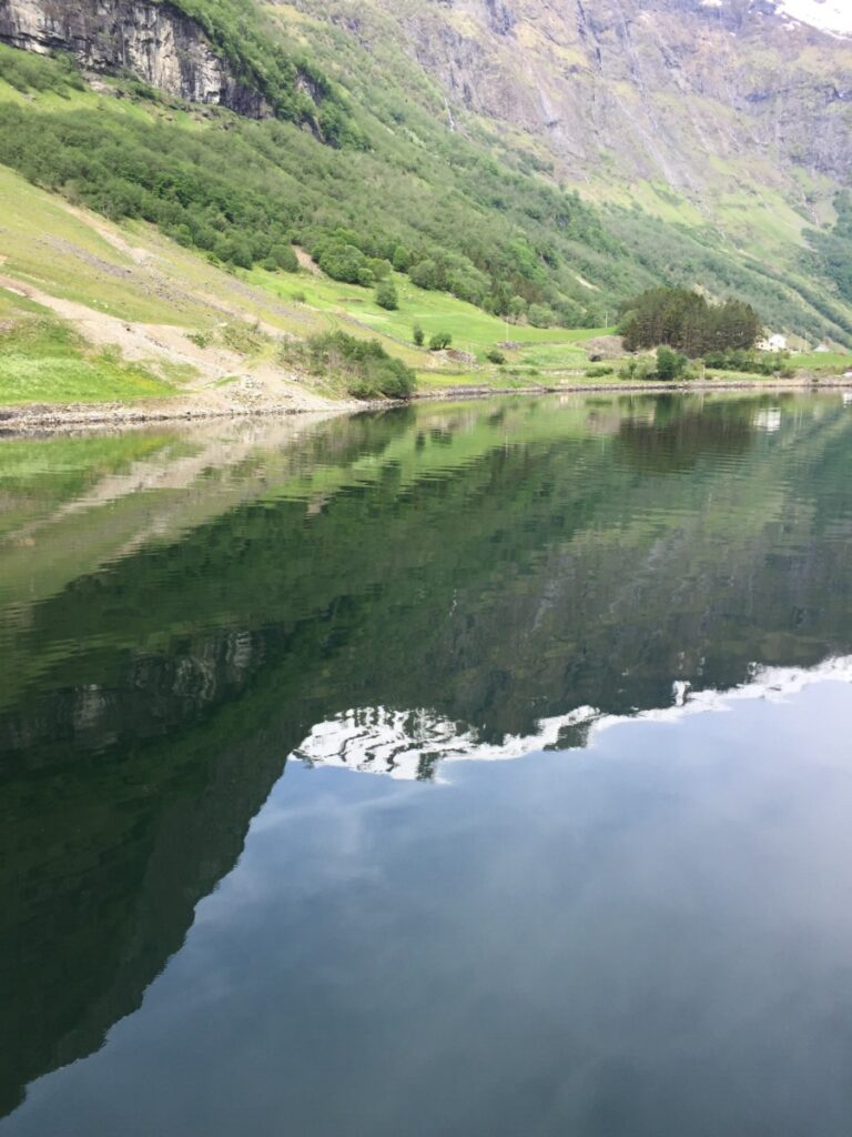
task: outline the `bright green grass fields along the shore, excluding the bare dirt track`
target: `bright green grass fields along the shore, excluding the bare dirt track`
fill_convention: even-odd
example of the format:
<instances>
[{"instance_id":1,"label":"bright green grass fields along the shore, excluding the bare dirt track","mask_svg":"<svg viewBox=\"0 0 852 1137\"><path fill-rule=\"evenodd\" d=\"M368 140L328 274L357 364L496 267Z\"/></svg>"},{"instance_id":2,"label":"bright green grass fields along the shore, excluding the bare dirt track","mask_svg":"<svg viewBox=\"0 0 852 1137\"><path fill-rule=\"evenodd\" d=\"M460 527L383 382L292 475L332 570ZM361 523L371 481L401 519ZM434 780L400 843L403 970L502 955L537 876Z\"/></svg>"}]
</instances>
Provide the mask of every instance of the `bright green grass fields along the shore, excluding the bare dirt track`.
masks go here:
<instances>
[{"instance_id":1,"label":"bright green grass fields along the shore, excluding the bare dirt track","mask_svg":"<svg viewBox=\"0 0 852 1137\"><path fill-rule=\"evenodd\" d=\"M510 323L446 292L417 288L399 273L393 274L399 309L387 312L375 302L374 289L341 284L308 269L295 274L260 267L226 271L150 225L139 221L118 225L73 208L5 167L0 167L0 205L5 257L0 275L10 279L9 287L19 282L36 289L35 294L84 305L93 316L200 333L214 346L225 341L224 329L244 327L247 334L237 335L236 342L244 340L237 350L249 370L274 358L276 337L306 339L341 330L378 338L416 371L421 392L620 382L617 360L603 364L613 374L587 374L592 366L588 341L611 334L612 329L536 329ZM415 347L416 324L427 341L438 332L450 334L453 349L474 360ZM256 325L262 332L252 333ZM253 341L259 346L252 347ZM488 363L487 352L506 342L517 345L501 349L506 365ZM792 357L794 367L817 375L842 373L851 362L852 354ZM158 371L154 375L147 366L125 362L111 343L86 343L73 323L9 288L0 289L0 404L132 402L178 393L179 368L160 360ZM715 377L749 379L722 373ZM212 385L227 379L223 375ZM320 393L343 393L333 376L304 381Z\"/></svg>"}]
</instances>

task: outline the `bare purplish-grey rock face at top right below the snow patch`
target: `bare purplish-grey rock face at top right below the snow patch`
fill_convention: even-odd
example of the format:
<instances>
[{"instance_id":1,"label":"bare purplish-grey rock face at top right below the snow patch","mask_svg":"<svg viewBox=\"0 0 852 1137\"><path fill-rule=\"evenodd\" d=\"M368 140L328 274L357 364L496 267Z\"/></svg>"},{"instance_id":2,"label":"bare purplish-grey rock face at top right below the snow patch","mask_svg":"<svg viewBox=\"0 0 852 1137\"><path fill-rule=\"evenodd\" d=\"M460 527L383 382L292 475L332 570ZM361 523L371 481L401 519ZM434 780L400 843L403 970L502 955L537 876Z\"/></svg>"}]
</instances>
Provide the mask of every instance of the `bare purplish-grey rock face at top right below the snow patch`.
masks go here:
<instances>
[{"instance_id":1,"label":"bare purplish-grey rock face at top right below the snow patch","mask_svg":"<svg viewBox=\"0 0 852 1137\"><path fill-rule=\"evenodd\" d=\"M688 192L707 185L709 163L852 174L852 40L788 19L774 0L361 7L395 22L454 114L520 128L569 177L609 165Z\"/></svg>"}]
</instances>

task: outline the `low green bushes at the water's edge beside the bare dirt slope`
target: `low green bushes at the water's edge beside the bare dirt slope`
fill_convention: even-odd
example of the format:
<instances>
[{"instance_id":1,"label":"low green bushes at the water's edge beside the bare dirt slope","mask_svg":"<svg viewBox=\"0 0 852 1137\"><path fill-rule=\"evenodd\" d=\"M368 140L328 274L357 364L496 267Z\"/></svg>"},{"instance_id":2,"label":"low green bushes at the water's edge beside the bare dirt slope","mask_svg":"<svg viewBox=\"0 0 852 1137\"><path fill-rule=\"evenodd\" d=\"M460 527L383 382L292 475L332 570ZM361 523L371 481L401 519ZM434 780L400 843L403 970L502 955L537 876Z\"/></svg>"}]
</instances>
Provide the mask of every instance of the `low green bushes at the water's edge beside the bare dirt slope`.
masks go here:
<instances>
[{"instance_id":1,"label":"low green bushes at the water's edge beside the bare dirt slope","mask_svg":"<svg viewBox=\"0 0 852 1137\"><path fill-rule=\"evenodd\" d=\"M286 363L298 362L315 375L344 379L356 399L410 399L417 387L415 372L389 355L378 340L326 332L304 343L285 343L281 350Z\"/></svg>"}]
</instances>

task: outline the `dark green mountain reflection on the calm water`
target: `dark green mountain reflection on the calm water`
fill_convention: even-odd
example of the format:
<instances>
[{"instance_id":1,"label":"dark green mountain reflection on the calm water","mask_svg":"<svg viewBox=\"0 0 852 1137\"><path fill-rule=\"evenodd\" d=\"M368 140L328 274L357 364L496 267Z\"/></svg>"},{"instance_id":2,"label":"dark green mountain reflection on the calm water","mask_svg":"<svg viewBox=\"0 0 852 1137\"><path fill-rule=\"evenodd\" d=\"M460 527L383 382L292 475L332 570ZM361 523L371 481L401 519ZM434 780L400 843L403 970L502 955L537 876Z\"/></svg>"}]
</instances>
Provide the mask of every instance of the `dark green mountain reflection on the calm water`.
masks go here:
<instances>
[{"instance_id":1,"label":"dark green mountain reflection on the calm water","mask_svg":"<svg viewBox=\"0 0 852 1137\"><path fill-rule=\"evenodd\" d=\"M122 531L123 557L20 606L0 719L2 1105L139 1005L316 724L426 707L499 748L578 707L629 714L674 681L729 688L753 661L849 650L849 413L793 400L768 434L767 405L332 424L241 458L225 512L199 505L158 543ZM206 471L193 492L216 491Z\"/></svg>"}]
</instances>

